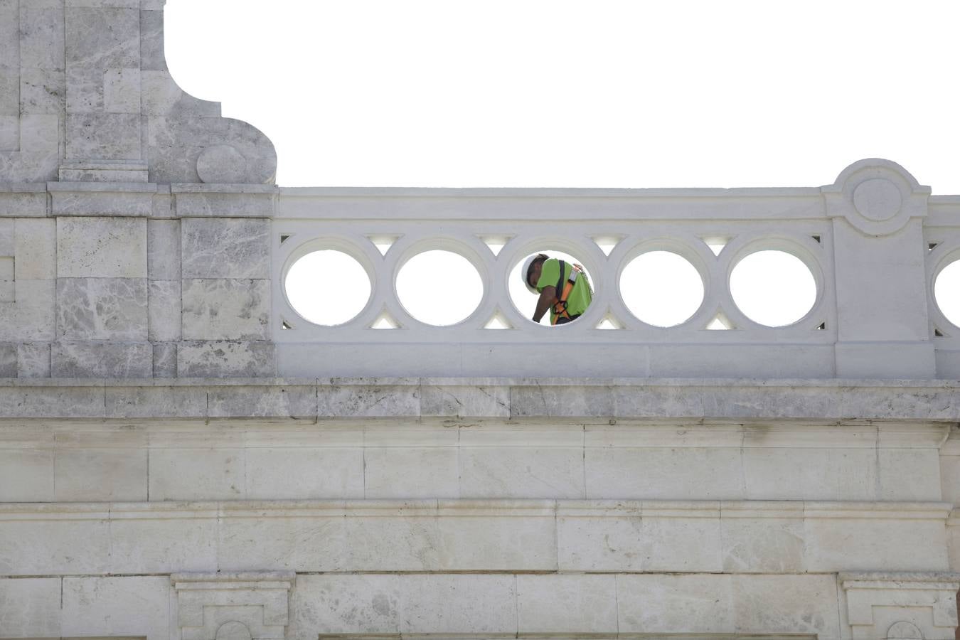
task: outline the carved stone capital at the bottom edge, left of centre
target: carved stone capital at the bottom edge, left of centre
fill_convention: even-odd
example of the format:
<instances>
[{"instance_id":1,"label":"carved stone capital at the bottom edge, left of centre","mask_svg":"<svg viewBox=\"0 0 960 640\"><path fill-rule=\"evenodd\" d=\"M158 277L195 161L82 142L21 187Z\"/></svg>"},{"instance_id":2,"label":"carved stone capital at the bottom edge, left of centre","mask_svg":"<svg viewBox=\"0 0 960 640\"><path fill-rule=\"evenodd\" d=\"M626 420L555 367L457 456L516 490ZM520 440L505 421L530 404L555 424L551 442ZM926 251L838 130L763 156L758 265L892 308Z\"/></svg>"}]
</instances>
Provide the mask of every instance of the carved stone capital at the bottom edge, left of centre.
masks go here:
<instances>
[{"instance_id":1,"label":"carved stone capital at the bottom edge, left of centre","mask_svg":"<svg viewBox=\"0 0 960 640\"><path fill-rule=\"evenodd\" d=\"M284 637L290 571L172 574L182 640Z\"/></svg>"}]
</instances>

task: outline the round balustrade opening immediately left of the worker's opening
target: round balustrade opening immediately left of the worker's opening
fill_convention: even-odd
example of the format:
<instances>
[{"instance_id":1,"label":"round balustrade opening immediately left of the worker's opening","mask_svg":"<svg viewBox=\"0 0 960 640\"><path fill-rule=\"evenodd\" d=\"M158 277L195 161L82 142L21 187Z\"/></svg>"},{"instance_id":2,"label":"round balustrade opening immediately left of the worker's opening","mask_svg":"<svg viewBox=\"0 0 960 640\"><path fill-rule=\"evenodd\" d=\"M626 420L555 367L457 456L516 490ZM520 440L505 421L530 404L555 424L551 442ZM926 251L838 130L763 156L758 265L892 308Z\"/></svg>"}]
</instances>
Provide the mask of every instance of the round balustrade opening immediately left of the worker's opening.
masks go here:
<instances>
[{"instance_id":1,"label":"round balustrade opening immediately left of the worker's opening","mask_svg":"<svg viewBox=\"0 0 960 640\"><path fill-rule=\"evenodd\" d=\"M407 260L396 274L396 296L420 322L447 326L467 320L480 305L483 279L459 253L423 251Z\"/></svg>"}]
</instances>

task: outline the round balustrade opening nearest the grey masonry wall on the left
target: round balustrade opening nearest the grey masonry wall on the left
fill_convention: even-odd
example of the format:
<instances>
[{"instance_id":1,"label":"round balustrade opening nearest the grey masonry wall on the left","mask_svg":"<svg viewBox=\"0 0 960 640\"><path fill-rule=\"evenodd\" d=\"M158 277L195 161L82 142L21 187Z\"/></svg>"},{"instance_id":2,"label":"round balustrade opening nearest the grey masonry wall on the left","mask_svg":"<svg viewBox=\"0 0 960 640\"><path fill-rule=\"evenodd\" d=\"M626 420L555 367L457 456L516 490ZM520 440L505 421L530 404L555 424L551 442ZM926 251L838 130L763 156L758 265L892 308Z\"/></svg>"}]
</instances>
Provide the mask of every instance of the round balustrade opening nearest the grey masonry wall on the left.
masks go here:
<instances>
[{"instance_id":1,"label":"round balustrade opening nearest the grey masonry wall on the left","mask_svg":"<svg viewBox=\"0 0 960 640\"><path fill-rule=\"evenodd\" d=\"M367 271L352 256L333 249L311 251L297 260L283 287L303 319L327 326L356 318L371 294Z\"/></svg>"}]
</instances>

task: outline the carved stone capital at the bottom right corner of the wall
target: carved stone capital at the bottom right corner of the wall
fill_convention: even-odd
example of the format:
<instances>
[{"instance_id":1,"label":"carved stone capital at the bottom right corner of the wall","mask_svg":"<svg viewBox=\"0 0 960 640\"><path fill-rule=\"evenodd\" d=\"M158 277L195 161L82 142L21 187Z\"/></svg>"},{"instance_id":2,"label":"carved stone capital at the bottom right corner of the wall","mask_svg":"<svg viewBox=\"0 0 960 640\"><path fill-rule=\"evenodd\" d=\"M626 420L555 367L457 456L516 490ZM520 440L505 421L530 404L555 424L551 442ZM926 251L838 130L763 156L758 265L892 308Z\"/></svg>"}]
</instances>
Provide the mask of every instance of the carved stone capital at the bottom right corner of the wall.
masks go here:
<instances>
[{"instance_id":1,"label":"carved stone capital at the bottom right corner of the wall","mask_svg":"<svg viewBox=\"0 0 960 640\"><path fill-rule=\"evenodd\" d=\"M853 640L953 640L960 574L841 573Z\"/></svg>"}]
</instances>

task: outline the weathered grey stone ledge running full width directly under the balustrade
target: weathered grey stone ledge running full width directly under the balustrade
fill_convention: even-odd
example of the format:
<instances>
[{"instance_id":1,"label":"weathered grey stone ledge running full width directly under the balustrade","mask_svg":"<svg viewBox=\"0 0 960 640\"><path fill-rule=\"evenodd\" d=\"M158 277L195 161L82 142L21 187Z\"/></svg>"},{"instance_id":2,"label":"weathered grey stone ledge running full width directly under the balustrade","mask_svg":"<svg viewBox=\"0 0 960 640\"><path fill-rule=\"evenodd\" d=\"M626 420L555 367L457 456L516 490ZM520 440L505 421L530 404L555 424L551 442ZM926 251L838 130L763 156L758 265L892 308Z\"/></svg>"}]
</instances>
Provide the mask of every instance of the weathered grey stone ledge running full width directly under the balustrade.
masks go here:
<instances>
[{"instance_id":1,"label":"weathered grey stone ledge running full width directly under the balustrade","mask_svg":"<svg viewBox=\"0 0 960 640\"><path fill-rule=\"evenodd\" d=\"M953 380L0 379L6 418L960 421Z\"/></svg>"}]
</instances>

